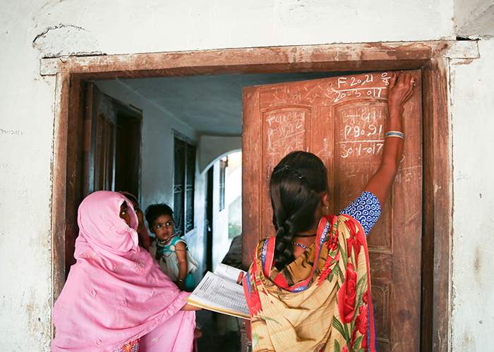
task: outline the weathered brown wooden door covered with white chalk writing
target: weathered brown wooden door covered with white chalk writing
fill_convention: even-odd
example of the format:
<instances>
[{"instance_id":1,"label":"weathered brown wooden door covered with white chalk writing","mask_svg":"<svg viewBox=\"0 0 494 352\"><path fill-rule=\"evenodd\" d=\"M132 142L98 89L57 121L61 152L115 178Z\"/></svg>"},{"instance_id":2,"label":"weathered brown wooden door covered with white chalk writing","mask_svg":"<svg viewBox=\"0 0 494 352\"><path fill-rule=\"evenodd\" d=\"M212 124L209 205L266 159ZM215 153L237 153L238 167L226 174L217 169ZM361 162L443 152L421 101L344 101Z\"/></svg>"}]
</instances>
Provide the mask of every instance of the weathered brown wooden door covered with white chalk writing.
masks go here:
<instances>
[{"instance_id":1,"label":"weathered brown wooden door covered with white chalk writing","mask_svg":"<svg viewBox=\"0 0 494 352\"><path fill-rule=\"evenodd\" d=\"M418 351L421 311L421 73L406 103L404 160L368 237L380 351ZM243 264L275 234L268 185L290 151L328 169L332 210L355 199L380 163L390 73L247 87L243 92Z\"/></svg>"}]
</instances>

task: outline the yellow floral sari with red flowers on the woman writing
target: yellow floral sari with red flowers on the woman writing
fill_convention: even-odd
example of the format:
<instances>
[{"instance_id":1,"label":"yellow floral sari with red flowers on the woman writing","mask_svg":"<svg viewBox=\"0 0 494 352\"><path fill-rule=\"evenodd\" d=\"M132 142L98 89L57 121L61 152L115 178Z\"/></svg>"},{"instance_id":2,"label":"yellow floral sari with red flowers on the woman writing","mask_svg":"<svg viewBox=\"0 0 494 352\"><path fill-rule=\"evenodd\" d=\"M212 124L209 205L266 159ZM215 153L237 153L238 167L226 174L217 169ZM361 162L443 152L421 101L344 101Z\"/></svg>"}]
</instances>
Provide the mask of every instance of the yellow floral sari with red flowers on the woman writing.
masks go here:
<instances>
[{"instance_id":1,"label":"yellow floral sari with red flowers on the woman writing","mask_svg":"<svg viewBox=\"0 0 494 352\"><path fill-rule=\"evenodd\" d=\"M253 351L375 351L366 236L348 215L319 223L315 242L281 272L275 237L260 241L243 287Z\"/></svg>"}]
</instances>

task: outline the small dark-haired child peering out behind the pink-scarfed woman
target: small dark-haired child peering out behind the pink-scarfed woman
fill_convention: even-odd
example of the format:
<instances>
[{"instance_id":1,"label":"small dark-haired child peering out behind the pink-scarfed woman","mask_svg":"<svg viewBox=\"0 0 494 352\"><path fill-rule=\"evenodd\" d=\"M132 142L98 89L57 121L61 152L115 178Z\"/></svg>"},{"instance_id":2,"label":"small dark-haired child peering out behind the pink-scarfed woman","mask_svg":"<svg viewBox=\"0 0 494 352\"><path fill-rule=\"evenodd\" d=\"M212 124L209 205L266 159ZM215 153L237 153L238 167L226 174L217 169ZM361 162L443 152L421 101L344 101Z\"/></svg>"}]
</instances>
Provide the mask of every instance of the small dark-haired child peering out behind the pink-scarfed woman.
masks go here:
<instances>
[{"instance_id":1,"label":"small dark-haired child peering out behind the pink-scarfed woman","mask_svg":"<svg viewBox=\"0 0 494 352\"><path fill-rule=\"evenodd\" d=\"M192 291L195 287L192 273L197 270L197 262L187 250L187 242L174 232L173 210L164 203L152 204L147 207L145 218L156 236L150 247L151 255L180 289Z\"/></svg>"}]
</instances>

